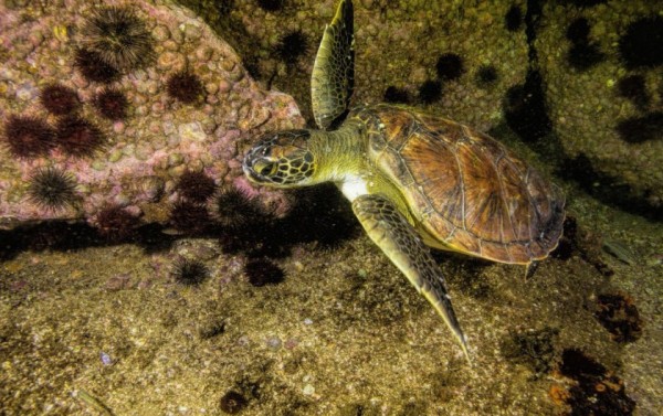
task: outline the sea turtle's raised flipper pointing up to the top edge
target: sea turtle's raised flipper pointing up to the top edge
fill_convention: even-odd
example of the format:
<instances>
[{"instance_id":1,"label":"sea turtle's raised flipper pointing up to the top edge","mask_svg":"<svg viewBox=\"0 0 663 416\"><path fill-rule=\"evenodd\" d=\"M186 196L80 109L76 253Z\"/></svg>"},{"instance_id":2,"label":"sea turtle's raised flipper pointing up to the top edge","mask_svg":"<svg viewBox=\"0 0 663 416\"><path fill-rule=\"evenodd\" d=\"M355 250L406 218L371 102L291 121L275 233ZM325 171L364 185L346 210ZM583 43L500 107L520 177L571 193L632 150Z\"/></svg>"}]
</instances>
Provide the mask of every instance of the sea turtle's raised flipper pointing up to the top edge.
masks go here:
<instances>
[{"instance_id":1,"label":"sea turtle's raised flipper pointing up to the top edge","mask_svg":"<svg viewBox=\"0 0 663 416\"><path fill-rule=\"evenodd\" d=\"M311 76L315 122L322 129L338 125L347 114L355 88L355 26L352 1L341 0L325 28ZM336 121L336 122L335 122Z\"/></svg>"}]
</instances>

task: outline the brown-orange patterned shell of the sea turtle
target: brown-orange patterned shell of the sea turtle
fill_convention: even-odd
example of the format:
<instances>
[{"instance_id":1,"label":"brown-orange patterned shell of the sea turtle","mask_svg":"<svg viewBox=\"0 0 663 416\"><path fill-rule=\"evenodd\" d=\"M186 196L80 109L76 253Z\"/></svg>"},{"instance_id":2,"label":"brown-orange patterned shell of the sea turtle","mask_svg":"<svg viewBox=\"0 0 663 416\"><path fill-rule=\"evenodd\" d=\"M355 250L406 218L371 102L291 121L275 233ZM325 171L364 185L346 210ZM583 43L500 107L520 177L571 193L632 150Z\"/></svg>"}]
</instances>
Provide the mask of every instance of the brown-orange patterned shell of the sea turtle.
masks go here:
<instances>
[{"instance_id":1,"label":"brown-orange patterned shell of the sea turtle","mask_svg":"<svg viewBox=\"0 0 663 416\"><path fill-rule=\"evenodd\" d=\"M429 245L513 264L557 246L561 190L499 142L397 106L356 117L367 126L369 159L400 191Z\"/></svg>"}]
</instances>

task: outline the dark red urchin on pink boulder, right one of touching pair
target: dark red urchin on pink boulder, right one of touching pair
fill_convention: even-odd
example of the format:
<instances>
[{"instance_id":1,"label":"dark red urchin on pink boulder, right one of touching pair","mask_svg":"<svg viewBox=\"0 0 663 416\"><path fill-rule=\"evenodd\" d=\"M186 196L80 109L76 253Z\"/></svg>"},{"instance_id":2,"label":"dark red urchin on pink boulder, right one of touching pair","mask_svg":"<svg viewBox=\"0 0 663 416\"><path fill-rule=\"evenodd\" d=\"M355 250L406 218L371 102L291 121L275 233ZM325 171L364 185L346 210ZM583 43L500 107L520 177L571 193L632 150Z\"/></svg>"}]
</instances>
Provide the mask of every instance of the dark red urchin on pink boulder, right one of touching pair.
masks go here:
<instances>
[{"instance_id":1,"label":"dark red urchin on pink boulder, right one of touching pair","mask_svg":"<svg viewBox=\"0 0 663 416\"><path fill-rule=\"evenodd\" d=\"M98 127L80 117L65 117L57 121L57 145L74 157L92 156L105 141Z\"/></svg>"}]
</instances>

